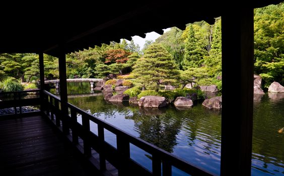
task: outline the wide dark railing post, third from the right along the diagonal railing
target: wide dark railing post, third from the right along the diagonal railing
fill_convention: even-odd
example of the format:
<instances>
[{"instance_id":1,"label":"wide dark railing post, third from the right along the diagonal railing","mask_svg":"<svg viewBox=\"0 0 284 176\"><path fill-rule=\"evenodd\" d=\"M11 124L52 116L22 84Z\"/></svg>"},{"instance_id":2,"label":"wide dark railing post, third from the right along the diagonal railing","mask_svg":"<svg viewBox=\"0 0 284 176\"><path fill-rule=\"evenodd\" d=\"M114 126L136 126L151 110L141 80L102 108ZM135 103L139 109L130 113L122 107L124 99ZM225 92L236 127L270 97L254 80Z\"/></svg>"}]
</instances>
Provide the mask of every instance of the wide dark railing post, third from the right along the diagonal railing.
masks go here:
<instances>
[{"instance_id":1,"label":"wide dark railing post, third from the right along the diagonal railing","mask_svg":"<svg viewBox=\"0 0 284 176\"><path fill-rule=\"evenodd\" d=\"M120 158L119 160L119 168L118 175L127 175L129 168L129 158L130 158L130 147L129 141L126 140L121 134L116 134L116 142L117 142L117 152Z\"/></svg>"}]
</instances>

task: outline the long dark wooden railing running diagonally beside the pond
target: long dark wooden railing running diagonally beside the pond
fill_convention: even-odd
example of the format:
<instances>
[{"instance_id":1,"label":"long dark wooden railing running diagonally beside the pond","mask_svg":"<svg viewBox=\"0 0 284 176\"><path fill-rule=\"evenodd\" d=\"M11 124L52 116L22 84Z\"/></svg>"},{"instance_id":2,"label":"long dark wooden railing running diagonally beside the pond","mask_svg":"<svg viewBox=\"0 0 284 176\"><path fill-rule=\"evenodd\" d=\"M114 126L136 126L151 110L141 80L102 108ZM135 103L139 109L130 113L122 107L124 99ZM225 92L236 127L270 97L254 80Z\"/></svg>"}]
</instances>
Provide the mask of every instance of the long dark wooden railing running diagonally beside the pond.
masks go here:
<instances>
[{"instance_id":1,"label":"long dark wooden railing running diagonally beside the pond","mask_svg":"<svg viewBox=\"0 0 284 176\"><path fill-rule=\"evenodd\" d=\"M106 162L109 162L117 168L118 175L172 175L172 166L190 175L214 175L144 140L134 137L74 105L67 104L70 114L62 115L59 108L60 99L47 91L44 91L44 102L46 103L46 110L44 111L46 115L59 128L62 125L69 128L69 139L75 145L80 145L80 139L83 140L82 153L85 156L92 157L92 149L99 153L98 169L101 171L106 169ZM78 115L82 117L82 124L77 121ZM90 130L90 121L97 124L98 135ZM104 129L116 135L116 148L105 141ZM130 158L130 144L152 155L152 171Z\"/></svg>"}]
</instances>

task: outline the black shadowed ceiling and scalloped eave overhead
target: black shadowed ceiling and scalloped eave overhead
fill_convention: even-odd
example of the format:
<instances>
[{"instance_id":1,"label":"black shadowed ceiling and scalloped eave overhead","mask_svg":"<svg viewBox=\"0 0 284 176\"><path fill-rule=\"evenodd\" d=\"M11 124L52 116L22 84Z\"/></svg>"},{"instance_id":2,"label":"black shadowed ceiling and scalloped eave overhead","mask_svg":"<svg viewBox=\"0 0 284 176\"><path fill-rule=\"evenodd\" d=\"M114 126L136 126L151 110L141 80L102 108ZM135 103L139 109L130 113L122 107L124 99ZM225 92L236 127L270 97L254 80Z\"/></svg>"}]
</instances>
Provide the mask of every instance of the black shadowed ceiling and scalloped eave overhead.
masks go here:
<instances>
[{"instance_id":1,"label":"black shadowed ceiling and scalloped eave overhead","mask_svg":"<svg viewBox=\"0 0 284 176\"><path fill-rule=\"evenodd\" d=\"M253 2L251 7L258 8L281 1ZM152 31L162 34L168 27L184 29L185 24L196 21L212 24L214 18L231 9L250 6L232 1L15 4L1 5L0 53L44 52L53 56L58 56L59 46L69 53L121 38L131 40L134 35L144 38Z\"/></svg>"}]
</instances>

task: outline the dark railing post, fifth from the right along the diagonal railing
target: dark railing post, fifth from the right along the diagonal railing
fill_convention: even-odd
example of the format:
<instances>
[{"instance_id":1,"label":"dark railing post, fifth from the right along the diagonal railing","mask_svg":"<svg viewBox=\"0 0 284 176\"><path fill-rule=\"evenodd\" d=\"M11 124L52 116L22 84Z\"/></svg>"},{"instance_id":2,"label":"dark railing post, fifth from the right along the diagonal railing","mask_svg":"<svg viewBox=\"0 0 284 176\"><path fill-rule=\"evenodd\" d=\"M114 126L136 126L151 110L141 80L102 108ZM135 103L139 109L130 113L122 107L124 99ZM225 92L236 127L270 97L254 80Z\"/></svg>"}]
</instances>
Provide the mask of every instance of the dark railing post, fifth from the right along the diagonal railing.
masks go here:
<instances>
[{"instance_id":1,"label":"dark railing post, fifth from the right along the diagonal railing","mask_svg":"<svg viewBox=\"0 0 284 176\"><path fill-rule=\"evenodd\" d=\"M90 120L88 116L82 114L82 126L83 126L83 136L84 136L84 154L86 156L91 156L91 145L89 142L89 133L90 133Z\"/></svg>"}]
</instances>

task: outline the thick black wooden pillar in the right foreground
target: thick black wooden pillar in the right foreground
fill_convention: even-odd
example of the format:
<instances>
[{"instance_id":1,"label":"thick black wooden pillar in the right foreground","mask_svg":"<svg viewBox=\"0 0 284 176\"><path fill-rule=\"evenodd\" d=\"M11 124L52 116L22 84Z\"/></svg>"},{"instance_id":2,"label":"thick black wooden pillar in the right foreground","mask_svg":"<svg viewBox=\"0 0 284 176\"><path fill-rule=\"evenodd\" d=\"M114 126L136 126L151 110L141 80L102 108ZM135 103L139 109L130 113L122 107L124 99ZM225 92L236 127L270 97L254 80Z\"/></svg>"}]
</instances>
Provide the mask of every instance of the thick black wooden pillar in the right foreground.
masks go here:
<instances>
[{"instance_id":1,"label":"thick black wooden pillar in the right foreground","mask_svg":"<svg viewBox=\"0 0 284 176\"><path fill-rule=\"evenodd\" d=\"M222 16L221 175L251 175L253 8Z\"/></svg>"}]
</instances>

